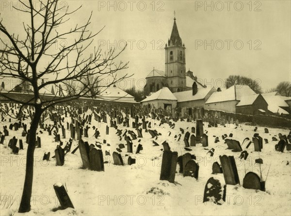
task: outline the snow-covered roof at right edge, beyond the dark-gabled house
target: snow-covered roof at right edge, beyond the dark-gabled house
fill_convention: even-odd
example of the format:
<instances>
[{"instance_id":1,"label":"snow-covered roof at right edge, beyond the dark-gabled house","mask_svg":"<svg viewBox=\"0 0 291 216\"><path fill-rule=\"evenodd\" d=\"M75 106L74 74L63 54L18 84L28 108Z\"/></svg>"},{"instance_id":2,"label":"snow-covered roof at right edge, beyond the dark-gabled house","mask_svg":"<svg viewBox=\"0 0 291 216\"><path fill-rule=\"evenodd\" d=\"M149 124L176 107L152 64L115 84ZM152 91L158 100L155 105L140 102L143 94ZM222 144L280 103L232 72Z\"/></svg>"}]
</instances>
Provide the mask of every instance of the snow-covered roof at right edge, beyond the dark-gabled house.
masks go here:
<instances>
[{"instance_id":1,"label":"snow-covered roof at right edge, beyond the dark-gabled house","mask_svg":"<svg viewBox=\"0 0 291 216\"><path fill-rule=\"evenodd\" d=\"M289 97L284 96L263 96L263 98L267 101L268 110L272 113L279 113L279 114L289 114L286 110L282 109L281 107L288 108L289 105L286 103L286 99Z\"/></svg>"}]
</instances>

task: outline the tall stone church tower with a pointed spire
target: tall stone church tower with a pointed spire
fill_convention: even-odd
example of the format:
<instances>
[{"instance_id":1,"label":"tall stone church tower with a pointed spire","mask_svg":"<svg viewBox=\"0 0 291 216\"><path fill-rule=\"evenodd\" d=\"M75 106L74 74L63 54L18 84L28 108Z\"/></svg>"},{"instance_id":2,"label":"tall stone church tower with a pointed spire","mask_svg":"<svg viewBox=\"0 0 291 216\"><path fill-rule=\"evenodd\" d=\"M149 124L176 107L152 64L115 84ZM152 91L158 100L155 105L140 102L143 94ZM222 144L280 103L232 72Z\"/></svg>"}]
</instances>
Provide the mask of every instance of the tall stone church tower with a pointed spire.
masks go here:
<instances>
[{"instance_id":1,"label":"tall stone church tower with a pointed spire","mask_svg":"<svg viewBox=\"0 0 291 216\"><path fill-rule=\"evenodd\" d=\"M185 49L178 32L176 17L174 17L171 37L165 47L165 75L172 92L187 90Z\"/></svg>"}]
</instances>

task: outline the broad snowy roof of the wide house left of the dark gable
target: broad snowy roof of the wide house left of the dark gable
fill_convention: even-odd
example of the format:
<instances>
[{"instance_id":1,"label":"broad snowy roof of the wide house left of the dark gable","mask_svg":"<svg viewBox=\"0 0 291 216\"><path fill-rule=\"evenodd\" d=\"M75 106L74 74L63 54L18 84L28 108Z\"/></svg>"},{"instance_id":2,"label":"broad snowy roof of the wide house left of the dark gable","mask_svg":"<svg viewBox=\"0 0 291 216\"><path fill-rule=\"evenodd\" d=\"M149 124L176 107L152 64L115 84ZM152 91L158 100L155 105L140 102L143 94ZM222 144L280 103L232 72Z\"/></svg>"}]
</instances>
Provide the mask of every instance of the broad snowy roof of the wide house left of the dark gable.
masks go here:
<instances>
[{"instance_id":1,"label":"broad snowy roof of the wide house left of the dark gable","mask_svg":"<svg viewBox=\"0 0 291 216\"><path fill-rule=\"evenodd\" d=\"M256 94L248 85L233 85L221 92L214 92L207 103L216 103L229 100L241 100L242 96Z\"/></svg>"}]
</instances>

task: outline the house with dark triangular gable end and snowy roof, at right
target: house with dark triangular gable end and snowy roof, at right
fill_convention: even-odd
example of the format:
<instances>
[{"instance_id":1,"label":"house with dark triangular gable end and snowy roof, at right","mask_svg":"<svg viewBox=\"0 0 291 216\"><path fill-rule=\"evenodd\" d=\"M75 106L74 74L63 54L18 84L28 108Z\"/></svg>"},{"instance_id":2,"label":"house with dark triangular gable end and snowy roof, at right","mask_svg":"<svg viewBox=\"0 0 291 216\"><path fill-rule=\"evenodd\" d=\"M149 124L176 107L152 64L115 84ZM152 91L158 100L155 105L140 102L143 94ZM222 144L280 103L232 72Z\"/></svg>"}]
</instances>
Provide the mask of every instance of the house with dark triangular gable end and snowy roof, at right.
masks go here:
<instances>
[{"instance_id":1,"label":"house with dark triangular gable end and snowy roof, at right","mask_svg":"<svg viewBox=\"0 0 291 216\"><path fill-rule=\"evenodd\" d=\"M236 105L236 113L255 115L266 114L268 103L261 94L245 95Z\"/></svg>"}]
</instances>

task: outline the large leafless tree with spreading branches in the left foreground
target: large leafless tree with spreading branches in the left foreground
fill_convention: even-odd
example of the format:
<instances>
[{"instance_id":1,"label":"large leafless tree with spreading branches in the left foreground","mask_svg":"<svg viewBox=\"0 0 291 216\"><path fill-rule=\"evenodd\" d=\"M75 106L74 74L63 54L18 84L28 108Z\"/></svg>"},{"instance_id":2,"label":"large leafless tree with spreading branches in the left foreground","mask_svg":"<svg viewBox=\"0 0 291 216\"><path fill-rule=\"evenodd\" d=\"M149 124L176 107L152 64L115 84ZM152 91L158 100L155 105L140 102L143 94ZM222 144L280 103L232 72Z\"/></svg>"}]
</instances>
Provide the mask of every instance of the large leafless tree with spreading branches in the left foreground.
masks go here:
<instances>
[{"instance_id":1,"label":"large leafless tree with spreading branches in the left foreground","mask_svg":"<svg viewBox=\"0 0 291 216\"><path fill-rule=\"evenodd\" d=\"M20 6L14 8L18 13L28 14L30 21L23 23L23 35L15 35L8 32L3 20L0 20L0 41L3 44L0 50L0 78L17 78L21 83L29 83L33 98L20 101L9 94L0 95L10 101L34 108L27 149L25 182L19 206L19 212L23 213L31 210L33 154L41 115L57 103L88 97L90 86L82 85L83 80L88 77L95 76L97 79L111 77L111 83L98 86L106 88L129 76L117 78L117 72L127 68L128 63L114 63L124 49L119 52L111 49L104 53L100 47L90 50L94 37L104 28L97 33L89 31L92 13L84 24L66 30L69 15L81 7L69 12L67 6L60 7L58 0L39 0L38 4L32 3L32 0L19 2ZM67 44L55 49L56 44L60 45L60 40L64 39ZM24 49L21 49L20 45ZM47 81L39 82L42 79ZM71 81L79 86L71 92L71 95L46 99L40 93L42 89L52 85L62 84L64 89L70 88L68 82ZM91 84L94 87L94 83ZM92 96L94 95L90 95Z\"/></svg>"}]
</instances>

